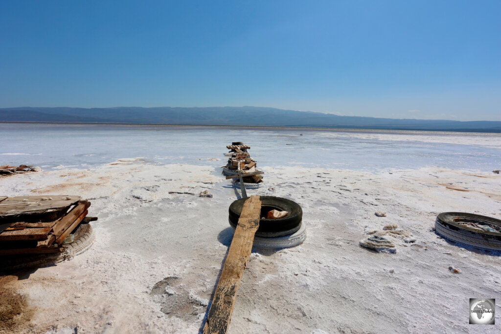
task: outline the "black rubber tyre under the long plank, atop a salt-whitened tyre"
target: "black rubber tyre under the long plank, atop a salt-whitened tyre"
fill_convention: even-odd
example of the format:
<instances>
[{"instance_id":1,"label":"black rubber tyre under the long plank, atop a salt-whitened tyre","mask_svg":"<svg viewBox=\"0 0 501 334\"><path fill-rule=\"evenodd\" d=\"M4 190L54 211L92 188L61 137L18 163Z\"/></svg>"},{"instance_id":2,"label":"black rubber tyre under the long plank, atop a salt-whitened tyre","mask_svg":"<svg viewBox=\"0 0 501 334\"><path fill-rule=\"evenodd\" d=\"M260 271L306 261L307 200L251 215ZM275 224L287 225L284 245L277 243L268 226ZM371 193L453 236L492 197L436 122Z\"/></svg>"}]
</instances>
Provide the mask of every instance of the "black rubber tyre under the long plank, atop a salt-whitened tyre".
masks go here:
<instances>
[{"instance_id":1,"label":"black rubber tyre under the long plank, atop a salt-whitened tyre","mask_svg":"<svg viewBox=\"0 0 501 334\"><path fill-rule=\"evenodd\" d=\"M240 213L242 212L243 203L246 198L240 198L229 206L229 221L230 223L238 224L238 218L240 218ZM301 206L291 201L287 198L275 197L275 196L261 196L261 209L262 217L264 211L270 208L277 209L280 211L288 211L289 214L283 218L277 219L266 219L261 218L259 221L258 232L281 232L289 231L301 224L303 219L303 210Z\"/></svg>"}]
</instances>

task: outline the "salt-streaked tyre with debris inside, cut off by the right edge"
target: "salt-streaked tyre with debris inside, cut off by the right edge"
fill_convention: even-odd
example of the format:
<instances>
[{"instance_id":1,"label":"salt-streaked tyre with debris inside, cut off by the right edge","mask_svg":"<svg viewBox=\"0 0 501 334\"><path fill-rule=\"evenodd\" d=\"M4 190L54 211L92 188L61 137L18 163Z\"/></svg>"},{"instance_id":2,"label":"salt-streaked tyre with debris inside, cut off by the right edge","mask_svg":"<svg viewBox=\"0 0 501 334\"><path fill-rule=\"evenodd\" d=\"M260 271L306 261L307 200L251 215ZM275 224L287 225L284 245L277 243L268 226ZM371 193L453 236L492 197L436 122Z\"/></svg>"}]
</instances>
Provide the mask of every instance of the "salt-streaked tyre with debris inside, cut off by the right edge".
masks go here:
<instances>
[{"instance_id":1,"label":"salt-streaked tyre with debris inside, cut off by the right edge","mask_svg":"<svg viewBox=\"0 0 501 334\"><path fill-rule=\"evenodd\" d=\"M447 240L480 249L501 250L501 233L471 228L458 222L476 222L501 227L501 220L466 212L442 212L435 220L435 232Z\"/></svg>"}]
</instances>

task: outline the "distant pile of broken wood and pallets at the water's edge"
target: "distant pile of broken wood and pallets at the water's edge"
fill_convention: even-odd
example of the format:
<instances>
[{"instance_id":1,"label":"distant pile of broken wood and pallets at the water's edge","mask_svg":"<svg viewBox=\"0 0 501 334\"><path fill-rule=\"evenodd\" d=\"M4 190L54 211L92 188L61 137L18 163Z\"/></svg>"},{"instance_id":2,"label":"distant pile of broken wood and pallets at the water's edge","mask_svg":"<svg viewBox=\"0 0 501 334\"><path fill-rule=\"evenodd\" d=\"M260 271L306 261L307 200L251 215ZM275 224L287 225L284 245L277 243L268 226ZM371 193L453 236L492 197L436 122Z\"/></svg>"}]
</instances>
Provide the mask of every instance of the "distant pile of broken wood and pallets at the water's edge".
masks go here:
<instances>
[{"instance_id":1,"label":"distant pile of broken wood and pallets at the water's edge","mask_svg":"<svg viewBox=\"0 0 501 334\"><path fill-rule=\"evenodd\" d=\"M245 183L260 183L263 182L263 172L256 168L256 161L250 157L247 152L250 146L247 145L228 145L231 156L228 163L223 167L223 174L227 178L236 178L238 173L241 173L243 182Z\"/></svg>"}]
</instances>

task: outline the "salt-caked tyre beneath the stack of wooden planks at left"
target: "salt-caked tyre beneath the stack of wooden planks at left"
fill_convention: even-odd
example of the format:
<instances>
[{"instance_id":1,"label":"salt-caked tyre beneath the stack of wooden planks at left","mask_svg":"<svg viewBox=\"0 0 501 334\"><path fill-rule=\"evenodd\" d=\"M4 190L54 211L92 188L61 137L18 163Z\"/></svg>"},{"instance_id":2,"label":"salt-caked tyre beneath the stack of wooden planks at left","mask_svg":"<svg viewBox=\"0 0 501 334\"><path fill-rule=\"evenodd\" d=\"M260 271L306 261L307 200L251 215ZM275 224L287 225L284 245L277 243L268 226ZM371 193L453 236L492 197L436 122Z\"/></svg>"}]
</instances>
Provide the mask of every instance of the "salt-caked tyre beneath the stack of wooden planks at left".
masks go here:
<instances>
[{"instance_id":1,"label":"salt-caked tyre beneath the stack of wooden planks at left","mask_svg":"<svg viewBox=\"0 0 501 334\"><path fill-rule=\"evenodd\" d=\"M94 231L90 224L80 224L74 231L72 243L63 245L61 253L11 255L0 258L0 272L24 268L41 268L64 260L69 260L85 252L94 242Z\"/></svg>"}]
</instances>

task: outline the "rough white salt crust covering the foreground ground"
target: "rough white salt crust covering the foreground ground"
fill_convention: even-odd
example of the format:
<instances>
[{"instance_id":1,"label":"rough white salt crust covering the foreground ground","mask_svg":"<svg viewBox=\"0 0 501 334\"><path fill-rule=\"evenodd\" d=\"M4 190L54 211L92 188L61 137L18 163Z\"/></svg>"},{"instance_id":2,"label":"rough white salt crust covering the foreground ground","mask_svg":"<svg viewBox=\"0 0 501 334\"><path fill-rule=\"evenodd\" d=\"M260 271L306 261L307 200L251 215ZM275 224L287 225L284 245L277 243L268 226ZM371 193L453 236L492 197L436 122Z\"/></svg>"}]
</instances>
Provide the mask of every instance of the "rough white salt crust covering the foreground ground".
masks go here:
<instances>
[{"instance_id":1,"label":"rough white salt crust covering the foreground ground","mask_svg":"<svg viewBox=\"0 0 501 334\"><path fill-rule=\"evenodd\" d=\"M501 300L499 254L457 247L429 230L444 211L501 217L501 176L439 168L262 169L265 183L247 193L298 202L308 237L291 249L254 250L230 333L474 332L469 298ZM214 197L169 194L203 190ZM36 309L27 332L183 333L202 326L204 312L187 318L180 305L167 315L150 291L178 277L166 293L180 304L210 299L231 242L227 209L239 195L212 166L121 159L3 178L0 194L80 195L92 202L89 215L99 217L87 252L20 274L15 286ZM390 223L417 241L393 238L396 254L358 245L368 230ZM450 272L451 265L462 273ZM496 318L481 330L499 332Z\"/></svg>"}]
</instances>

